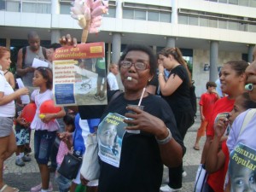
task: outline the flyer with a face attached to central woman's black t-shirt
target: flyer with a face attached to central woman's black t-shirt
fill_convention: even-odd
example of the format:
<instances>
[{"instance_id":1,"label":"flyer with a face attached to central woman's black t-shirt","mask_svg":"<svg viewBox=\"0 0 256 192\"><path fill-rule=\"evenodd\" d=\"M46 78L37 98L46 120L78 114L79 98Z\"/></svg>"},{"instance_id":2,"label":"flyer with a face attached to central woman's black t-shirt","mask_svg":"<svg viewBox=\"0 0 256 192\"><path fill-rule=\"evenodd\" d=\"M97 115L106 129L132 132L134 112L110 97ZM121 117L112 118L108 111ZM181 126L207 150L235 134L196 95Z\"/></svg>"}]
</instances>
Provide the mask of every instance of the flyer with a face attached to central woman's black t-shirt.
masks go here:
<instances>
[{"instance_id":1,"label":"flyer with a face attached to central woman's black t-shirt","mask_svg":"<svg viewBox=\"0 0 256 192\"><path fill-rule=\"evenodd\" d=\"M119 167L122 141L125 135L125 116L108 113L98 126L99 156L109 165Z\"/></svg>"}]
</instances>

